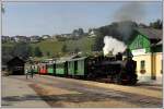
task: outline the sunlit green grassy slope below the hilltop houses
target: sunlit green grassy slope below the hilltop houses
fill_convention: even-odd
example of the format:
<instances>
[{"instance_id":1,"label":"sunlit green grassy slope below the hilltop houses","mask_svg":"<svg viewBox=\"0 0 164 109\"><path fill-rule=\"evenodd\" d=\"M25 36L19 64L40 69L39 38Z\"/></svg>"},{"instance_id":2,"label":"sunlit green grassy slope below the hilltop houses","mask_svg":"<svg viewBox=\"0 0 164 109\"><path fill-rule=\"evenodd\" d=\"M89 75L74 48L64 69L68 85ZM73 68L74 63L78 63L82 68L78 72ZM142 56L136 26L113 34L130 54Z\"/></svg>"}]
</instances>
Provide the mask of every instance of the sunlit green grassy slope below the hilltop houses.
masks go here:
<instances>
[{"instance_id":1,"label":"sunlit green grassy slope below the hilltop houses","mask_svg":"<svg viewBox=\"0 0 164 109\"><path fill-rule=\"evenodd\" d=\"M90 52L92 45L94 43L94 38L83 37L79 40L68 39L66 41L58 41L58 40L42 40L40 43L30 44L32 48L39 47L44 56L47 52L50 52L50 56L57 55L61 51L63 45L67 45L68 50L70 52L74 51L75 48L79 48L81 51ZM4 43L2 46L4 47L13 47L15 43Z\"/></svg>"}]
</instances>

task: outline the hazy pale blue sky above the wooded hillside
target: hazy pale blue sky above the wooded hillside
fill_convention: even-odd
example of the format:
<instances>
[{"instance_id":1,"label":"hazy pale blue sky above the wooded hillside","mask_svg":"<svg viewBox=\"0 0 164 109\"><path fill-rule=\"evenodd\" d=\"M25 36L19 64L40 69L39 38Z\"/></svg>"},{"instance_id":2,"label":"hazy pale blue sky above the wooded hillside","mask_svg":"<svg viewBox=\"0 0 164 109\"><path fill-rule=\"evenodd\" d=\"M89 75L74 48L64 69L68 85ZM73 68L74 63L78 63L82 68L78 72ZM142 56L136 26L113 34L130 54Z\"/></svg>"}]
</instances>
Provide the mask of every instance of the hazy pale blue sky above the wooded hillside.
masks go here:
<instances>
[{"instance_id":1,"label":"hazy pale blue sky above the wooded hillside","mask_svg":"<svg viewBox=\"0 0 164 109\"><path fill-rule=\"evenodd\" d=\"M162 20L162 2L3 2L2 35L56 35L109 25L128 16L149 24ZM139 10L138 10L139 9ZM131 16L130 16L130 15Z\"/></svg>"}]
</instances>

